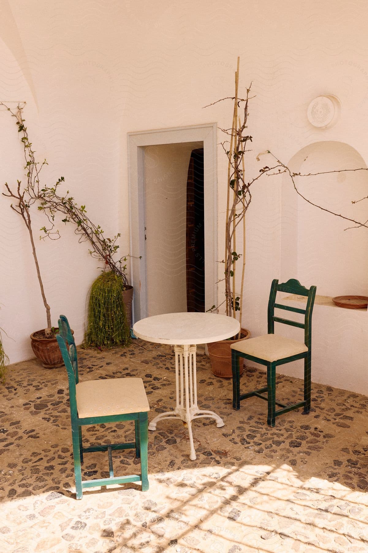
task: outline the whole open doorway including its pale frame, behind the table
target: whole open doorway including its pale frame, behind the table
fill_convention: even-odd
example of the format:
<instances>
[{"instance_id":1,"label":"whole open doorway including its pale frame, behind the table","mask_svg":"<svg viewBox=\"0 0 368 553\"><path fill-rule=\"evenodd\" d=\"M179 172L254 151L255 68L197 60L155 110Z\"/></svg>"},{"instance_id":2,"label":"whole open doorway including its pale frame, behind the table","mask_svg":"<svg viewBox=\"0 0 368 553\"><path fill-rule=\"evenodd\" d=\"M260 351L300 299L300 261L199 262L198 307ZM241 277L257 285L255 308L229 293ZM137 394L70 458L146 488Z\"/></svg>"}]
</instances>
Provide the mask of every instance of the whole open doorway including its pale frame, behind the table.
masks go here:
<instances>
[{"instance_id":1,"label":"whole open doorway including its pale frame, behind the table","mask_svg":"<svg viewBox=\"0 0 368 553\"><path fill-rule=\"evenodd\" d=\"M135 321L163 312L205 311L217 302L216 135L216 123L128 134ZM200 200L195 181L201 172ZM193 192L196 205L191 205ZM187 227L187 210L193 227ZM190 273L196 269L193 283Z\"/></svg>"}]
</instances>

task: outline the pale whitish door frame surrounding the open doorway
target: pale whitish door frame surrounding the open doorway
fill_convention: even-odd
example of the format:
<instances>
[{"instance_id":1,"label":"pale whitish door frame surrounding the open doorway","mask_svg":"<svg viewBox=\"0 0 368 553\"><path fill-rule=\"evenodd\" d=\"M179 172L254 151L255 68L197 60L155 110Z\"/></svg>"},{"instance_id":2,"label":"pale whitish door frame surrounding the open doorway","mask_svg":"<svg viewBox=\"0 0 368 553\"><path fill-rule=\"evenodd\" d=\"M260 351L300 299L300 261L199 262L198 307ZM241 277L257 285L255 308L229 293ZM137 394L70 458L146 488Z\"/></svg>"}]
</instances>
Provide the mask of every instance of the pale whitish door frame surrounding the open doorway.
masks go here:
<instances>
[{"instance_id":1,"label":"pale whitish door frame surrounding the open doorway","mask_svg":"<svg viewBox=\"0 0 368 553\"><path fill-rule=\"evenodd\" d=\"M147 316L144 148L202 142L204 148L205 309L217 305L217 123L127 133L134 322Z\"/></svg>"}]
</instances>

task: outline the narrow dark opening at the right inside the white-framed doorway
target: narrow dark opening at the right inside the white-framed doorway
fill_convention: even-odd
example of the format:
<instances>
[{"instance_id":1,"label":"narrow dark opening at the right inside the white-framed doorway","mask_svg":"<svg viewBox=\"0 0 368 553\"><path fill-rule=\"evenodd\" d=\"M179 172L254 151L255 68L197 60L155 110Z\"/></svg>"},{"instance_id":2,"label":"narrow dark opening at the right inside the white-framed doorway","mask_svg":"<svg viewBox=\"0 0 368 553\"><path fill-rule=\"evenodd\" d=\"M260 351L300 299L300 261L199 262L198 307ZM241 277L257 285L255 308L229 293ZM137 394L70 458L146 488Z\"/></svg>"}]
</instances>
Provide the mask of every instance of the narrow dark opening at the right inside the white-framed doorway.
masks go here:
<instances>
[{"instance_id":1,"label":"narrow dark opening at the right inside the white-framed doorway","mask_svg":"<svg viewBox=\"0 0 368 553\"><path fill-rule=\"evenodd\" d=\"M204 150L191 152L186 185L186 307L205 310Z\"/></svg>"}]
</instances>

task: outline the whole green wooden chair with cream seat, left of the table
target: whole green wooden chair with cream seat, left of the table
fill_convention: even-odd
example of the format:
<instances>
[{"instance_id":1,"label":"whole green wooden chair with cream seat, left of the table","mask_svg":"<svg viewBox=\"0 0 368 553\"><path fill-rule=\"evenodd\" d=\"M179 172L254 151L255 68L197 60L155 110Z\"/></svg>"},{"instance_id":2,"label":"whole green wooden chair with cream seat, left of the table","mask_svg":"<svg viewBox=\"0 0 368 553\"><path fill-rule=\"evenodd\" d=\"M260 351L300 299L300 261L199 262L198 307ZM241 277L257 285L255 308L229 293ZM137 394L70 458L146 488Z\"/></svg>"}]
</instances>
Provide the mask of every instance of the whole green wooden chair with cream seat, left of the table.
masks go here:
<instances>
[{"instance_id":1,"label":"whole green wooden chair with cream seat, left of the table","mask_svg":"<svg viewBox=\"0 0 368 553\"><path fill-rule=\"evenodd\" d=\"M145 387L141 378L111 378L102 380L78 380L77 348L67 318L60 315L59 332L56 335L65 367L68 373L70 417L72 424L74 476L77 499L82 499L84 488L122 484L124 482L142 483L142 492L147 491L148 467L148 405ZM69 351L68 351L69 346ZM134 420L135 442L126 444L97 445L83 447L82 426L107 424ZM131 476L114 476L113 450L136 450L136 457L141 458L141 474ZM90 451L107 451L109 457L109 478L82 481L81 463L83 453Z\"/></svg>"}]
</instances>

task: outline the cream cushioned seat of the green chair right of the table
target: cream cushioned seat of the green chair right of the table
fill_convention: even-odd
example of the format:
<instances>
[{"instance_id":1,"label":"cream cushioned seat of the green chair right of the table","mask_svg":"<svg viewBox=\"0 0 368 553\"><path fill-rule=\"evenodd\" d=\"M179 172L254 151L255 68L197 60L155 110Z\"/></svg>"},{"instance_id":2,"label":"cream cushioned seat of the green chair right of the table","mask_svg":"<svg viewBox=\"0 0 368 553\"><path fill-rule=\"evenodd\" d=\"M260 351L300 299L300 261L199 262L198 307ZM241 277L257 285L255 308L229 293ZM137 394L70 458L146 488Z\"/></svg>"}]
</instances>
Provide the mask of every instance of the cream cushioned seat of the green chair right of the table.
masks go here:
<instances>
[{"instance_id":1,"label":"cream cushioned seat of the green chair right of the table","mask_svg":"<svg viewBox=\"0 0 368 553\"><path fill-rule=\"evenodd\" d=\"M277 361L308 351L307 346L303 342L284 338L276 334L266 334L265 336L257 336L257 338L249 338L242 342L234 343L231 349L236 349L247 355L264 359L265 361Z\"/></svg>"}]
</instances>

